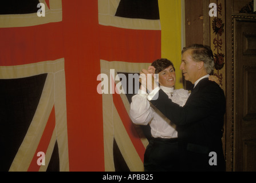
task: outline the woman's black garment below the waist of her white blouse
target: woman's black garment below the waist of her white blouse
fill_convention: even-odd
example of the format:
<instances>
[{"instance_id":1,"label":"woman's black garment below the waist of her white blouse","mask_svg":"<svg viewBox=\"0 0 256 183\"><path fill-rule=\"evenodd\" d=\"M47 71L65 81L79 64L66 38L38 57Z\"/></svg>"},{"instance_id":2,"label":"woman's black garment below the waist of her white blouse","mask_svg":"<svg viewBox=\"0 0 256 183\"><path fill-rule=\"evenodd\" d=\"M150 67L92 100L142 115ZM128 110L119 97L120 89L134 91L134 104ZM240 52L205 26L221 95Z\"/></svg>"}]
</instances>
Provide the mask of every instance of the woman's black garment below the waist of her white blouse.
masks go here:
<instances>
[{"instance_id":1,"label":"woman's black garment below the waist of her white blouse","mask_svg":"<svg viewBox=\"0 0 256 183\"><path fill-rule=\"evenodd\" d=\"M144 154L145 172L179 171L178 138L152 138Z\"/></svg>"}]
</instances>

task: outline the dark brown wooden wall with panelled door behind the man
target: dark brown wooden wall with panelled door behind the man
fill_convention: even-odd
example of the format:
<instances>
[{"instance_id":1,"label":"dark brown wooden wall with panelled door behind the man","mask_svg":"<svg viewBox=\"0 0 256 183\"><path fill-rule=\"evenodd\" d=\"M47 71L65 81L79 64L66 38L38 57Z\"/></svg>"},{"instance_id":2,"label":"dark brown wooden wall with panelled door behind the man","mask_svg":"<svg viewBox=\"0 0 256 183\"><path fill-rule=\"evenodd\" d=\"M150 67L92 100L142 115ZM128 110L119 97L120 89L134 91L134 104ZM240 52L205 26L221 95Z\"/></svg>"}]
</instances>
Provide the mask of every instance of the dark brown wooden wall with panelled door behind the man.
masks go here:
<instances>
[{"instance_id":1,"label":"dark brown wooden wall with panelled door behind the man","mask_svg":"<svg viewBox=\"0 0 256 183\"><path fill-rule=\"evenodd\" d=\"M210 3L216 3L217 17L209 16ZM214 74L220 79L220 85L226 94L227 110L223 134L226 170L255 171L256 156L253 154L256 154L256 132L254 132L256 98L250 93L256 92L256 89L249 83L256 75L256 59L254 59L256 57L256 33L253 28L250 28L255 26L256 21L253 1L185 0L185 19L186 46L192 43L211 46L215 59ZM250 23L240 23L248 21ZM240 30L239 26L248 26L248 28ZM243 36L245 32L247 36ZM239 54L239 50L247 51L246 53L249 54L243 57L244 53ZM240 64L240 62L245 63ZM239 73L241 75L238 75ZM186 81L183 83L185 88L191 85ZM239 87L244 88L239 90ZM238 100L239 97L243 100ZM239 107L239 104L242 106ZM239 115L239 113L246 113L243 108L248 109L249 113ZM248 115L251 121L244 117ZM249 136L243 135L248 131L245 126L253 129Z\"/></svg>"}]
</instances>

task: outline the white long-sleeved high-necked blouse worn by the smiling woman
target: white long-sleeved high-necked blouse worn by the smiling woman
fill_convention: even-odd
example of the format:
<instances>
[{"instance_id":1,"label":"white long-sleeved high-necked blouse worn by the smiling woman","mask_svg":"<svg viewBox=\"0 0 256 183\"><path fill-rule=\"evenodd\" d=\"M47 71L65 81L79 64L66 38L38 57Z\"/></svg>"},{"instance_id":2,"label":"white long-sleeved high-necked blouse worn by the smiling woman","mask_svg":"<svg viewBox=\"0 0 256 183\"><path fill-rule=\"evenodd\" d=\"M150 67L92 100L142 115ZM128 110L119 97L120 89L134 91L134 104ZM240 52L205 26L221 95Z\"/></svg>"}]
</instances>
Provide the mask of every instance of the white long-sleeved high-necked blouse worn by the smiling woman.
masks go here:
<instances>
[{"instance_id":1,"label":"white long-sleeved high-necked blouse worn by the smiling woman","mask_svg":"<svg viewBox=\"0 0 256 183\"><path fill-rule=\"evenodd\" d=\"M190 93L188 90L178 89L174 90L173 87L160 88L168 95L168 97L183 106L186 104ZM141 91L140 91L141 92ZM137 125L150 125L151 134L157 138L175 138L178 137L178 132L175 130L175 125L170 123L162 113L160 113L154 106L150 105L147 99L148 94L136 94L132 97L130 108L130 118L134 124Z\"/></svg>"}]
</instances>

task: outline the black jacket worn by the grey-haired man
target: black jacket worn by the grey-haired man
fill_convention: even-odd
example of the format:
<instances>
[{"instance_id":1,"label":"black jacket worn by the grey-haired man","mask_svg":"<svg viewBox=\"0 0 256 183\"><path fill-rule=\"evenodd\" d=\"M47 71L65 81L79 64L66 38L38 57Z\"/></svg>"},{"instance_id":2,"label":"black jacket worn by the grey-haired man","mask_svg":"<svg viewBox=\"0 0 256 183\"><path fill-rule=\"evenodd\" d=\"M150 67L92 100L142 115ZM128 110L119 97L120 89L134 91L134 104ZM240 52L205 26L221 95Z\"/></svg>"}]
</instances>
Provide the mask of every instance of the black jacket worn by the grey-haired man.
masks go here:
<instances>
[{"instance_id":1,"label":"black jacket worn by the grey-haired man","mask_svg":"<svg viewBox=\"0 0 256 183\"><path fill-rule=\"evenodd\" d=\"M218 166L210 166L210 169L213 167L216 170L223 170L224 156L221 138L226 99L219 85L209 81L208 78L203 78L192 90L183 107L172 102L163 90L159 90L155 97L151 103L177 126L182 158L186 160L184 163L200 166L199 161L202 160L202 164L209 168L209 153L216 152ZM197 154L198 160L191 153ZM200 167L198 170L202 170ZM192 165L191 168L196 170Z\"/></svg>"}]
</instances>

